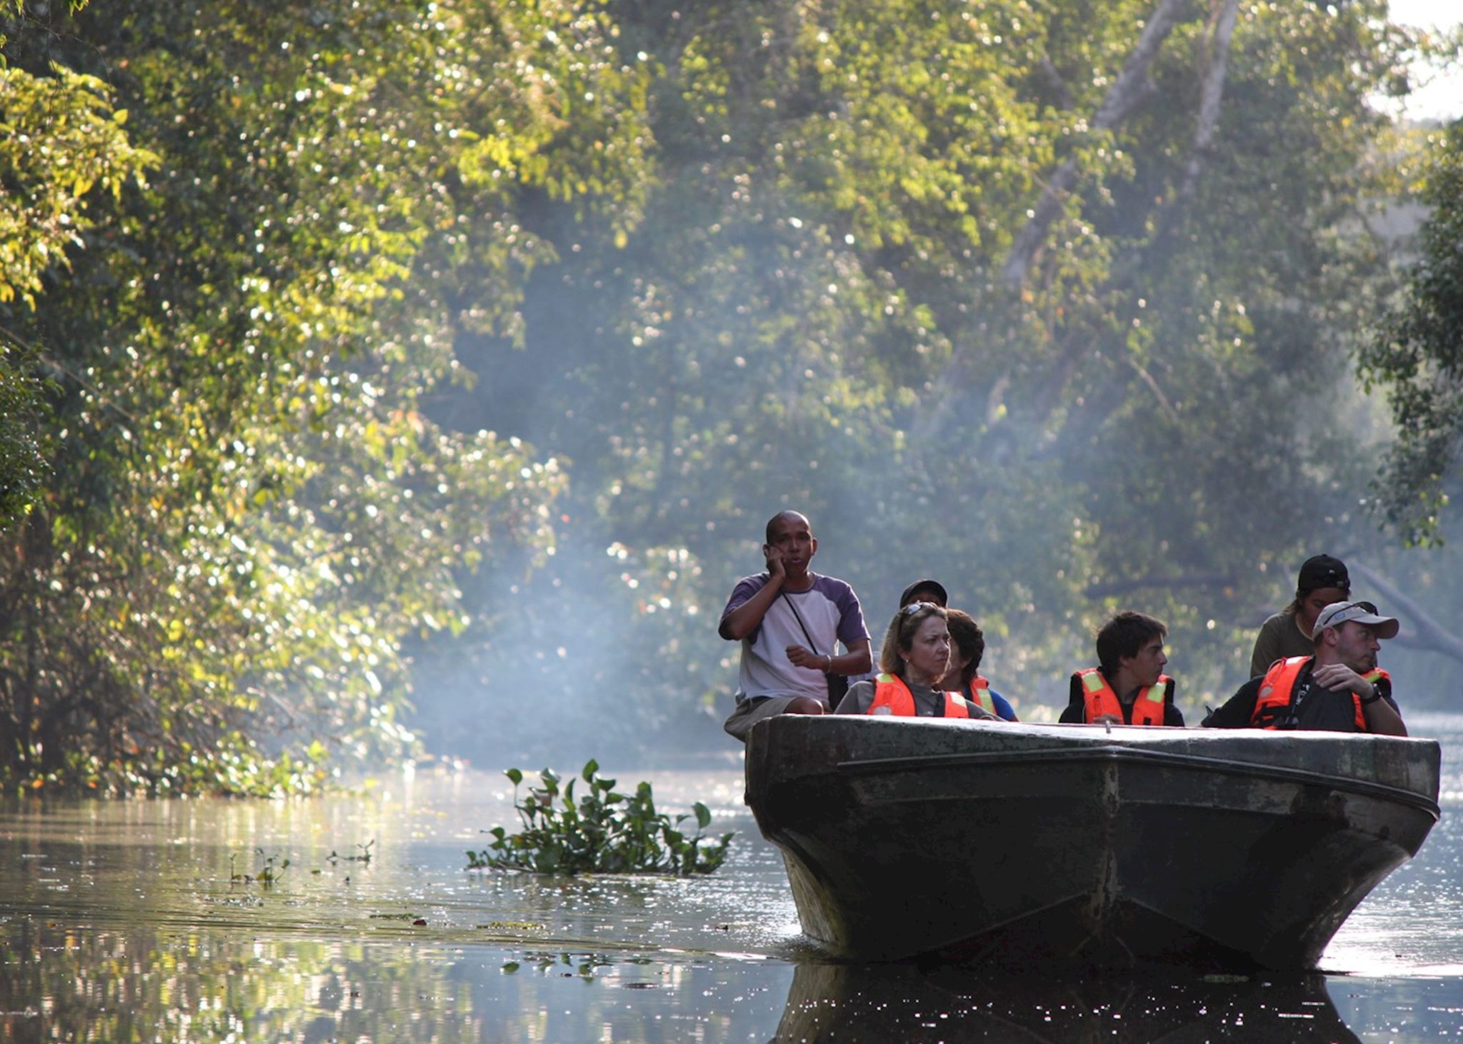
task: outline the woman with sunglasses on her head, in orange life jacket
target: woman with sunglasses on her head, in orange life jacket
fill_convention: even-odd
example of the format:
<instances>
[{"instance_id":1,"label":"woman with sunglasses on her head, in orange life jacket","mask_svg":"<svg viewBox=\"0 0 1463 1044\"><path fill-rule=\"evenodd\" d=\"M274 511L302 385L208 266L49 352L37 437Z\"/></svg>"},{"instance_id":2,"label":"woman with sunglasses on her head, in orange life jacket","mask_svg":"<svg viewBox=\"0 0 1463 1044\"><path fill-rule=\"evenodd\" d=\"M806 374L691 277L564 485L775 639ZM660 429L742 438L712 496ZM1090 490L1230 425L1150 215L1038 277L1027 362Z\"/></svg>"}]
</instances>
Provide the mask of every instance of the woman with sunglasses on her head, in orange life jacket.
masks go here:
<instances>
[{"instance_id":1,"label":"woman with sunglasses on her head, in orange life jacket","mask_svg":"<svg viewBox=\"0 0 1463 1044\"><path fill-rule=\"evenodd\" d=\"M995 718L960 693L942 692L949 670L945 610L911 602L894 614L879 649L879 676L849 689L834 714L895 714L919 718Z\"/></svg>"}]
</instances>

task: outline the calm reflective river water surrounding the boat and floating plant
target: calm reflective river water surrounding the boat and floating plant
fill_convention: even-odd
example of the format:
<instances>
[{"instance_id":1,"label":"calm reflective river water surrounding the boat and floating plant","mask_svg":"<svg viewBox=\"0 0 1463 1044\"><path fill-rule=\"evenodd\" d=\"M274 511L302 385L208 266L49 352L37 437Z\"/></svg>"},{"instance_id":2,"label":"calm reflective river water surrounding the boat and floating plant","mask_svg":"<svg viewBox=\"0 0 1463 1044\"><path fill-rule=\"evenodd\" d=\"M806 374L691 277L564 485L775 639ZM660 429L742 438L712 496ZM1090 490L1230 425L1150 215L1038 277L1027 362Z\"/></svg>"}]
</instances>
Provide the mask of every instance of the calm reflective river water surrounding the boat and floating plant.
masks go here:
<instances>
[{"instance_id":1,"label":"calm reflective river water surrounding the boat and floating plant","mask_svg":"<svg viewBox=\"0 0 1463 1044\"><path fill-rule=\"evenodd\" d=\"M710 800L715 829L742 832L702 880L465 873L478 831L512 820L511 787L483 773L301 803L10 798L0 1040L1456 1037L1463 716L1428 727L1443 822L1342 928L1327 974L1295 978L830 964L800 940L736 766L644 773L663 807ZM278 883L240 879L271 858L290 860Z\"/></svg>"}]
</instances>

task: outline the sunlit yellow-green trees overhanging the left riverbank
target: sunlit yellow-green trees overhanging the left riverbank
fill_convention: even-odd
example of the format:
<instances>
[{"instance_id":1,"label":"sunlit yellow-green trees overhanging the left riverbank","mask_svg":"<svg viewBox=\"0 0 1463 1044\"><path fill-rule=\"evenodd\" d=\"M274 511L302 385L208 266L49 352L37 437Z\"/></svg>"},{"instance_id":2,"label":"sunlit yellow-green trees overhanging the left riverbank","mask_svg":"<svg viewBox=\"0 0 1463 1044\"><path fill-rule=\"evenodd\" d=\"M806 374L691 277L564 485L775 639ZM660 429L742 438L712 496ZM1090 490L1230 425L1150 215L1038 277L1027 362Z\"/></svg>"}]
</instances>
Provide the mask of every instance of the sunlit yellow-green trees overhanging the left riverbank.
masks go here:
<instances>
[{"instance_id":1,"label":"sunlit yellow-green trees overhanging the left riverbank","mask_svg":"<svg viewBox=\"0 0 1463 1044\"><path fill-rule=\"evenodd\" d=\"M73 241L7 268L54 478L0 559L0 771L266 791L313 769L259 735L410 752L402 636L459 630L458 570L541 547L562 481L420 399L552 259L516 193L633 222L644 73L552 3L120 1L6 31L9 70L102 129L66 148L105 161L59 158L67 181L10 154L60 181ZM59 126L57 91L20 111Z\"/></svg>"}]
</instances>

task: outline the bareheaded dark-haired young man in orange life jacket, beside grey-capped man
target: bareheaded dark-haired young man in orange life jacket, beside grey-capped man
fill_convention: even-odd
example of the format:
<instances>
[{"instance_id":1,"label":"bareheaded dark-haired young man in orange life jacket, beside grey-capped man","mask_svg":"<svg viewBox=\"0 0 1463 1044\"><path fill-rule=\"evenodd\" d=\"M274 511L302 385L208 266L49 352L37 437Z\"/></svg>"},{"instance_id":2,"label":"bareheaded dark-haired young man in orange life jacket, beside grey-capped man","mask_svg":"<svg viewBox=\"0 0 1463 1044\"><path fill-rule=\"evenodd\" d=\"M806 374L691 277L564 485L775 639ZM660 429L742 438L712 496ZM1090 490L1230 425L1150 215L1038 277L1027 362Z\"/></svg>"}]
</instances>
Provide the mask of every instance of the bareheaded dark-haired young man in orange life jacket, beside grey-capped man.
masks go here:
<instances>
[{"instance_id":1,"label":"bareheaded dark-haired young man in orange life jacket, beside grey-capped man","mask_svg":"<svg viewBox=\"0 0 1463 1044\"><path fill-rule=\"evenodd\" d=\"M1097 632L1097 662L1072 674L1061 721L1088 725L1176 725L1173 678L1163 673L1169 629L1143 613L1119 613Z\"/></svg>"}]
</instances>

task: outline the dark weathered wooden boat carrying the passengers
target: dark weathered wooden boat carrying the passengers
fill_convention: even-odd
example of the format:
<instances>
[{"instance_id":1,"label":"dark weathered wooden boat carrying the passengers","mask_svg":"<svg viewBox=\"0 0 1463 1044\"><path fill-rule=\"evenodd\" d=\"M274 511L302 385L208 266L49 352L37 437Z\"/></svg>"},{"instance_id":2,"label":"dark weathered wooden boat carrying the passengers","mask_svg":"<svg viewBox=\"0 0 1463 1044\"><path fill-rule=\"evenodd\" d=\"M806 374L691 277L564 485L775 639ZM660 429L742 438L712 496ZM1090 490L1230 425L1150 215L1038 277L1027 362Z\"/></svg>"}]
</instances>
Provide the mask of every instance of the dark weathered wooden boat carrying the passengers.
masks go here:
<instances>
[{"instance_id":1,"label":"dark weathered wooden boat carrying the passengers","mask_svg":"<svg viewBox=\"0 0 1463 1044\"><path fill-rule=\"evenodd\" d=\"M1438 768L1381 735L784 715L746 801L841 958L1309 969L1428 836Z\"/></svg>"}]
</instances>

